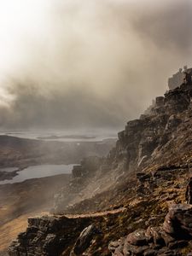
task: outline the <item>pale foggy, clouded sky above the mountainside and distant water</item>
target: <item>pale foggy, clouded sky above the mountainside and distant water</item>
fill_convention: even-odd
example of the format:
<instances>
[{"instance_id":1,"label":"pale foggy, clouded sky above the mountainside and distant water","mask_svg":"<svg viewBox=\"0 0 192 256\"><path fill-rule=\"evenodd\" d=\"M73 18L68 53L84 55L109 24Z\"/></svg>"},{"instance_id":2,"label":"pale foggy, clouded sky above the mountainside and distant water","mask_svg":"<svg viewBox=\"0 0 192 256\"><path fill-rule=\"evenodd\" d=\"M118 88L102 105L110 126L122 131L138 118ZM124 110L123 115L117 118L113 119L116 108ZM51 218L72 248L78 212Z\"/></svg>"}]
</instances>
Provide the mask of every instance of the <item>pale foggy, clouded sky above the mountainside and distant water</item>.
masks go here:
<instances>
[{"instance_id":1,"label":"pale foggy, clouded sky above the mountainside and distant water","mask_svg":"<svg viewBox=\"0 0 192 256\"><path fill-rule=\"evenodd\" d=\"M190 0L1 1L1 127L117 129L137 118L192 66L191 12Z\"/></svg>"}]
</instances>

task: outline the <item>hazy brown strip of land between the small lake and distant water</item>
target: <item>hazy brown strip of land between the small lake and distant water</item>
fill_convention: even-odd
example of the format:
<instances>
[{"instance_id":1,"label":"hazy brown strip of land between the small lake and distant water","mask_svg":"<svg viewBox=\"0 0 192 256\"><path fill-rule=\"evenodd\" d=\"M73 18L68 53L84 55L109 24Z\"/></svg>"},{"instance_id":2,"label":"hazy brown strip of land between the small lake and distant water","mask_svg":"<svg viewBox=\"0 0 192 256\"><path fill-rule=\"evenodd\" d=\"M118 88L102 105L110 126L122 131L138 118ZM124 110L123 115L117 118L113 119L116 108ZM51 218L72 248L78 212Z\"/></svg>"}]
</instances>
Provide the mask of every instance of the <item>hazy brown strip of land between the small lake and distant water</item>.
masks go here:
<instances>
[{"instance_id":1,"label":"hazy brown strip of land between the small lake and distant water","mask_svg":"<svg viewBox=\"0 0 192 256\"><path fill-rule=\"evenodd\" d=\"M17 167L41 164L78 164L89 155L108 154L114 140L103 142L56 142L0 136L0 166ZM11 179L16 172L0 172L0 180Z\"/></svg>"}]
</instances>

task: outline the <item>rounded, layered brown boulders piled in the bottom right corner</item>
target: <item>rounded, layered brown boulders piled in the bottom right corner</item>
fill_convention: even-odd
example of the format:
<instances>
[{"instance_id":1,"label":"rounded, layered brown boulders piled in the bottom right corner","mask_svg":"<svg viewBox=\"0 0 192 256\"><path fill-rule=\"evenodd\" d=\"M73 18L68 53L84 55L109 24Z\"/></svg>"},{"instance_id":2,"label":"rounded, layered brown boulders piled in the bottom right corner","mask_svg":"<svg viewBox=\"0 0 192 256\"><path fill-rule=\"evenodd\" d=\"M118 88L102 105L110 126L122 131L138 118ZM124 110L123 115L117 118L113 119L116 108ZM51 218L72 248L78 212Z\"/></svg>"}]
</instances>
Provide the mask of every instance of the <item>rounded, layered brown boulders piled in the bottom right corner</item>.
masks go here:
<instances>
[{"instance_id":1,"label":"rounded, layered brown boulders piled in the bottom right corner","mask_svg":"<svg viewBox=\"0 0 192 256\"><path fill-rule=\"evenodd\" d=\"M192 206L173 205L163 226L135 230L119 241L110 242L108 247L113 256L189 255L192 250L191 221Z\"/></svg>"}]
</instances>

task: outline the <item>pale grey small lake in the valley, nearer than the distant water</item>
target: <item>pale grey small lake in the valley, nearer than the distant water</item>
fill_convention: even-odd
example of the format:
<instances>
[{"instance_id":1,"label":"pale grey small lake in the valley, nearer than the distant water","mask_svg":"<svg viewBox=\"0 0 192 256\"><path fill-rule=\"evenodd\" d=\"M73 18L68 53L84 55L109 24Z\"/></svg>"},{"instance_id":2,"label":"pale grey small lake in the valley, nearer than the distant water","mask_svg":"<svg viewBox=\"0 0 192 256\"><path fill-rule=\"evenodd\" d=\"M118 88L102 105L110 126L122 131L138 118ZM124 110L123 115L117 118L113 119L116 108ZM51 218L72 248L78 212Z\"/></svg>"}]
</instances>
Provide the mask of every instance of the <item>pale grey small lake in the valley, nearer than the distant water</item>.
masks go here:
<instances>
[{"instance_id":1,"label":"pale grey small lake in the valley, nearer than the distant water","mask_svg":"<svg viewBox=\"0 0 192 256\"><path fill-rule=\"evenodd\" d=\"M71 174L73 166L74 165L29 166L26 169L23 169L22 171L17 172L18 175L13 177L12 179L0 181L0 185L7 184L7 183L21 183L26 179L32 179L32 178L50 177L50 176L55 176L59 174ZM6 171L6 168L0 169L0 172L1 171Z\"/></svg>"}]
</instances>

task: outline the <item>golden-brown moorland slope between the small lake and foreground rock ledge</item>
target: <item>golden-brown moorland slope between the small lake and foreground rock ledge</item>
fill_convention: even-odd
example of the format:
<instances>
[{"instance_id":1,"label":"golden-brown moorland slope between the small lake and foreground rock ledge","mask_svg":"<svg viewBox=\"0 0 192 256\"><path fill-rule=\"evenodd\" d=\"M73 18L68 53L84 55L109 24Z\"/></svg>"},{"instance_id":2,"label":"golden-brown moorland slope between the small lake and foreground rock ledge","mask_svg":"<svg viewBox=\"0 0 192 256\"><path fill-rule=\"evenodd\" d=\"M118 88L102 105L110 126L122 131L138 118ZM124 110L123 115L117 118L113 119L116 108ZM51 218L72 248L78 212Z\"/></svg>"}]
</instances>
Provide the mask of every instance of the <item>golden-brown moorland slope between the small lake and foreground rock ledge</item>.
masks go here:
<instances>
[{"instance_id":1,"label":"golden-brown moorland slope between the small lake and foreground rock ledge","mask_svg":"<svg viewBox=\"0 0 192 256\"><path fill-rule=\"evenodd\" d=\"M26 229L29 216L49 212L56 191L70 179L71 175L63 174L0 186L0 255Z\"/></svg>"}]
</instances>

